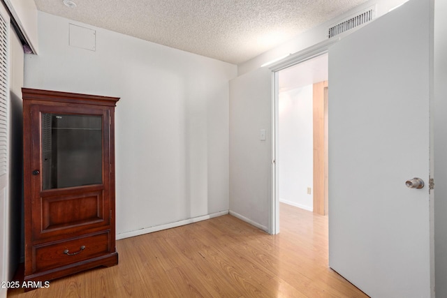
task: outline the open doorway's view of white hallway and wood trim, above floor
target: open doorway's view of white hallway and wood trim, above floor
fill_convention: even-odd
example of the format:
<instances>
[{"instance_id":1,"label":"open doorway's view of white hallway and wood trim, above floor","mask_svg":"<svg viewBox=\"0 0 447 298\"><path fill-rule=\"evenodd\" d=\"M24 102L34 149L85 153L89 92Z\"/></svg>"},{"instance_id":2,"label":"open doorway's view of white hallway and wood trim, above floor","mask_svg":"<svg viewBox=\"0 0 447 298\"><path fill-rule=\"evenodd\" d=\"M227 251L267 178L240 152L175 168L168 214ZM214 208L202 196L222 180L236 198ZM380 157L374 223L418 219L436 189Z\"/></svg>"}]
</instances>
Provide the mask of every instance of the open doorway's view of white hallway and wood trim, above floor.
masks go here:
<instances>
[{"instance_id":1,"label":"open doorway's view of white hallway and wood trim, above floor","mask_svg":"<svg viewBox=\"0 0 447 298\"><path fill-rule=\"evenodd\" d=\"M277 200L327 215L328 54L276 77Z\"/></svg>"}]
</instances>

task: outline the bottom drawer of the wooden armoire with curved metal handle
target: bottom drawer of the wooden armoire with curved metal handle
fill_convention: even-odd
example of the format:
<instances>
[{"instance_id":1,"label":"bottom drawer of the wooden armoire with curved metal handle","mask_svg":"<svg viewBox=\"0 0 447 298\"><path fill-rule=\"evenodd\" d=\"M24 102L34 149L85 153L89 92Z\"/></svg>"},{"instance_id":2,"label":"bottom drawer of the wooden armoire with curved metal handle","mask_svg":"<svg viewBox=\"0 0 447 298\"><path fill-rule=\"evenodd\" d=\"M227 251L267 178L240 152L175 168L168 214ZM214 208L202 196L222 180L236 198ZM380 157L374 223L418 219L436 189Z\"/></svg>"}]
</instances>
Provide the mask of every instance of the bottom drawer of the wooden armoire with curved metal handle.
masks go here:
<instances>
[{"instance_id":1,"label":"bottom drawer of the wooden armoire with curved metal handle","mask_svg":"<svg viewBox=\"0 0 447 298\"><path fill-rule=\"evenodd\" d=\"M96 258L110 252L110 231L33 246L33 273Z\"/></svg>"}]
</instances>

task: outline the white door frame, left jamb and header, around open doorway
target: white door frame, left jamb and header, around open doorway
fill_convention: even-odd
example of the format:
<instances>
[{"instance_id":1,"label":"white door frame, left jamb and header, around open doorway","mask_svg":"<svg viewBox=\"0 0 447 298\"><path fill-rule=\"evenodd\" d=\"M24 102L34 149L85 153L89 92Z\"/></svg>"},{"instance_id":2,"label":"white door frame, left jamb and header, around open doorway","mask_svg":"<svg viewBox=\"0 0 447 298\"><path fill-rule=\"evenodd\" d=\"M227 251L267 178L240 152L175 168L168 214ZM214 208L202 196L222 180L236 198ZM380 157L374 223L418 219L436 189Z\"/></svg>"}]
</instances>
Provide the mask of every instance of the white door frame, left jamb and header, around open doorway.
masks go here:
<instances>
[{"instance_id":1,"label":"white door frame, left jamb and header, around open doorway","mask_svg":"<svg viewBox=\"0 0 447 298\"><path fill-rule=\"evenodd\" d=\"M349 33L344 33L337 38L324 40L269 65L272 71L272 197L270 200L270 227L268 227L270 234L279 233L279 167L277 167L277 161L279 160L279 70L284 70L322 54L327 54L331 45L337 43L343 36Z\"/></svg>"}]
</instances>

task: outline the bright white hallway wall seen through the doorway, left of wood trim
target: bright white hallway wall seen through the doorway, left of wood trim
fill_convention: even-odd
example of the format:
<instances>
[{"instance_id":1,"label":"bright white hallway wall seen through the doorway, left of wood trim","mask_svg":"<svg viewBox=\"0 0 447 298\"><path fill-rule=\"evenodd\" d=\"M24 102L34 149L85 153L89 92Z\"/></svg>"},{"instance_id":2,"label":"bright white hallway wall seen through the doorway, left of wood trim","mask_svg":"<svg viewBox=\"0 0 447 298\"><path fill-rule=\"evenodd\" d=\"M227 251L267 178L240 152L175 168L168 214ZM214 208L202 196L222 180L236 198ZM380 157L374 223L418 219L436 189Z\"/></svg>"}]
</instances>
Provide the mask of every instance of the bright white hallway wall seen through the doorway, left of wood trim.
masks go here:
<instances>
[{"instance_id":1,"label":"bright white hallway wall seen through the doorway, left of wood trim","mask_svg":"<svg viewBox=\"0 0 447 298\"><path fill-rule=\"evenodd\" d=\"M281 73L279 75L281 80ZM313 86L279 94L279 201L313 211Z\"/></svg>"}]
</instances>

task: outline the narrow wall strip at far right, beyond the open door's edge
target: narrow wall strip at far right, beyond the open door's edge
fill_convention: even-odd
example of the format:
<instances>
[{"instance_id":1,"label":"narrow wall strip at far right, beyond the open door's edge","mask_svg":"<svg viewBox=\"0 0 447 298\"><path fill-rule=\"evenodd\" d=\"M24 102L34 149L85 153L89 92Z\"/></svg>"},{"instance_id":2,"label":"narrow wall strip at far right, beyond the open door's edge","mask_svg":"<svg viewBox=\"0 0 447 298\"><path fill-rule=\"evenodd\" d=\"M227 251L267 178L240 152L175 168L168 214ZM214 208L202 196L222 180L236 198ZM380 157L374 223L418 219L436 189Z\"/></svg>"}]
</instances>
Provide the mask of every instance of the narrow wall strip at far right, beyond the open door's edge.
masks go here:
<instances>
[{"instance_id":1,"label":"narrow wall strip at far right, beyond the open door's edge","mask_svg":"<svg viewBox=\"0 0 447 298\"><path fill-rule=\"evenodd\" d=\"M434 269L447 297L447 1L434 1Z\"/></svg>"}]
</instances>

